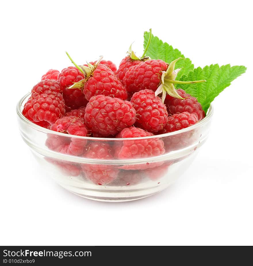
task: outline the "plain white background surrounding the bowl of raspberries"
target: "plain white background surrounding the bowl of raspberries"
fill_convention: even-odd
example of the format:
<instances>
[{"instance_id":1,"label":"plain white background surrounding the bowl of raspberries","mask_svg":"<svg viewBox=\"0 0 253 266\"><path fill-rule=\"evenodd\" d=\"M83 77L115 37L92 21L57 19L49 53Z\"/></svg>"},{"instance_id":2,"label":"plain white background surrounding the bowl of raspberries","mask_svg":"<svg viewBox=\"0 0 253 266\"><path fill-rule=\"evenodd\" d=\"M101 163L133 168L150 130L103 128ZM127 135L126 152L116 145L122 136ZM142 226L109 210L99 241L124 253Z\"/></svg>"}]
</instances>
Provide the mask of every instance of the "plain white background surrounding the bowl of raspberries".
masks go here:
<instances>
[{"instance_id":1,"label":"plain white background surrounding the bowl of raspberries","mask_svg":"<svg viewBox=\"0 0 253 266\"><path fill-rule=\"evenodd\" d=\"M4 1L1 4L1 245L249 245L252 214L250 1ZM214 100L212 130L177 182L134 202L95 202L43 176L16 121L50 68L100 55L117 65L143 31L195 66L245 65Z\"/></svg>"}]
</instances>

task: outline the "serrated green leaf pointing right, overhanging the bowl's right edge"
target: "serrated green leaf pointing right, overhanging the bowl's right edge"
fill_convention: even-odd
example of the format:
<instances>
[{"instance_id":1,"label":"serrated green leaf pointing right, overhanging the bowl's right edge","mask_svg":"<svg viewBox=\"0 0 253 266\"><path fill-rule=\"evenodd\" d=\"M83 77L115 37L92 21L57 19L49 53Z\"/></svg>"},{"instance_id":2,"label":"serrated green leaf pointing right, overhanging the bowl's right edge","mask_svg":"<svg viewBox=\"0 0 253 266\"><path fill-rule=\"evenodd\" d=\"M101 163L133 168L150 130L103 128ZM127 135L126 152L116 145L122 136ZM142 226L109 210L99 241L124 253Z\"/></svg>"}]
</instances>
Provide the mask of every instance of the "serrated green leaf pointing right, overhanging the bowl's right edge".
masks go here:
<instances>
[{"instance_id":1,"label":"serrated green leaf pointing right, overhanging the bowl's right edge","mask_svg":"<svg viewBox=\"0 0 253 266\"><path fill-rule=\"evenodd\" d=\"M204 83L182 84L178 87L185 90L198 99L206 112L210 107L210 103L218 96L231 81L239 77L246 71L245 66L230 66L230 64L219 67L218 64L205 66L203 69L198 67L189 72L188 75L183 75L181 81L201 80L205 79Z\"/></svg>"}]
</instances>

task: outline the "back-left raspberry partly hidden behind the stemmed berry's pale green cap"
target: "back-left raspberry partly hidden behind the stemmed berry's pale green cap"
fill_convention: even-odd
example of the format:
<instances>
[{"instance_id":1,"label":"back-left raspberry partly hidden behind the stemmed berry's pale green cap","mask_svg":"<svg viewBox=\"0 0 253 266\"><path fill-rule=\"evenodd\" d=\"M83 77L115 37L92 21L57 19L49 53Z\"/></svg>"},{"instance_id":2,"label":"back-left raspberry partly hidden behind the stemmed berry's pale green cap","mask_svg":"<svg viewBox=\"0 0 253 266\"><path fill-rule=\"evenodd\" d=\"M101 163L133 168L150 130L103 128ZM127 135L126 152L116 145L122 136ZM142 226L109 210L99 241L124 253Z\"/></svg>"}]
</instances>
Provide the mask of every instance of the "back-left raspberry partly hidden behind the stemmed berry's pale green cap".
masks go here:
<instances>
[{"instance_id":1,"label":"back-left raspberry partly hidden behind the stemmed berry's pale green cap","mask_svg":"<svg viewBox=\"0 0 253 266\"><path fill-rule=\"evenodd\" d=\"M87 100L83 95L83 91L79 89L68 89L75 82L84 79L83 73L75 66L64 68L58 75L58 82L63 91L63 98L67 111L78 109L79 107L86 106Z\"/></svg>"}]
</instances>

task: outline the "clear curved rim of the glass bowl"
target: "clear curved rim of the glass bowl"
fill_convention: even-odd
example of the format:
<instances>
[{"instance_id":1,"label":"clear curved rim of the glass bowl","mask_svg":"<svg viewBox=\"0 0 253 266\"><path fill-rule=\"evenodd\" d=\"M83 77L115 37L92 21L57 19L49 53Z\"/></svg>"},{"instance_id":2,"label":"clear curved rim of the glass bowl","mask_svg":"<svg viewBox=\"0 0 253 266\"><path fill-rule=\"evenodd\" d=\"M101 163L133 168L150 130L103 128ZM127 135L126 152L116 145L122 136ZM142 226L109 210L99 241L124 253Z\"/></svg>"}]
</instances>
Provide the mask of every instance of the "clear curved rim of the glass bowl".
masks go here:
<instances>
[{"instance_id":1,"label":"clear curved rim of the glass bowl","mask_svg":"<svg viewBox=\"0 0 253 266\"><path fill-rule=\"evenodd\" d=\"M52 131L52 130L49 130L47 128L43 128L41 126L38 126L38 125L32 123L31 121L29 121L26 117L24 117L24 115L22 114L22 111L21 111L21 106L22 106L24 100L29 95L30 95L30 92L28 94L26 94L25 96L23 96L18 101L18 104L17 104L17 107L16 107L16 111L17 111L18 117L22 121L24 121L28 126L33 128L34 130L37 130L37 131L40 131L40 132L44 132L45 134L51 133L51 134L55 134L55 135L58 135L58 136L64 136L64 137L69 136L71 138L74 137L74 138L86 139L86 140L122 141L122 140L141 140L141 139L143 140L143 139L151 139L151 138L164 138L164 137L173 136L173 135L176 135L176 134L181 134L183 132L188 132L188 131L191 131L191 130L193 130L195 128L198 128L198 127L206 124L211 119L211 117L213 115L213 107L212 107L212 104L211 104L209 109L208 109L208 111L207 111L206 117L204 117L201 121L199 121L195 125L189 126L188 128L184 128L184 129L177 130L177 131L174 131L174 132L160 134L160 135L154 135L154 136L147 136L147 137L138 137L138 138L95 138L95 137L83 137L83 136L67 135L67 134L64 134L64 133L61 133L61 132Z\"/></svg>"}]
</instances>

